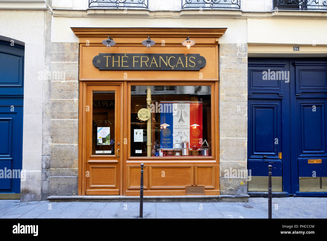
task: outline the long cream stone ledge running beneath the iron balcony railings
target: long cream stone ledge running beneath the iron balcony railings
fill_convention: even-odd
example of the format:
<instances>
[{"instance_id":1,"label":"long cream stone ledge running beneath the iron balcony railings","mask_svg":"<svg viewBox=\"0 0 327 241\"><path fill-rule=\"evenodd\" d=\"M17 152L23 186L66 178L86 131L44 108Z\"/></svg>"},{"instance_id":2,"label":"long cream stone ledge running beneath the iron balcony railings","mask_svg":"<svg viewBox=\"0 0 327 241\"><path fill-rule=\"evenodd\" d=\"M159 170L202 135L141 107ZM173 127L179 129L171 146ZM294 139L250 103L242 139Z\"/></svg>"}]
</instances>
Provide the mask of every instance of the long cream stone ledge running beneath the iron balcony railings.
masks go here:
<instances>
[{"instance_id":1,"label":"long cream stone ledge running beneath the iron balcony railings","mask_svg":"<svg viewBox=\"0 0 327 241\"><path fill-rule=\"evenodd\" d=\"M180 11L151 11L127 9L53 9L54 17L100 17L100 18L223 18L223 19L248 19L248 18L271 18L271 19L326 19L327 11L318 10L272 10L269 12L244 12L242 10L180 10Z\"/></svg>"}]
</instances>

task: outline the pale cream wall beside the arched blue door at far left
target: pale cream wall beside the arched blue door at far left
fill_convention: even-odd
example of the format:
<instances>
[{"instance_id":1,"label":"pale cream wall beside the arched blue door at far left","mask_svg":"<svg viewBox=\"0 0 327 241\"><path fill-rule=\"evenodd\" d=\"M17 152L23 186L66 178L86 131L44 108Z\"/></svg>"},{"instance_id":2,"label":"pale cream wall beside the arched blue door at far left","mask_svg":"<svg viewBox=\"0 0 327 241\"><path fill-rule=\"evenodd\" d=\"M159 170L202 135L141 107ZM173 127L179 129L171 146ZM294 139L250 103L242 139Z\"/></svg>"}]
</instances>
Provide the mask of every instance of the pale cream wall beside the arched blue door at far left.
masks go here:
<instances>
[{"instance_id":1,"label":"pale cream wall beside the arched blue door at far left","mask_svg":"<svg viewBox=\"0 0 327 241\"><path fill-rule=\"evenodd\" d=\"M22 201L41 198L44 10L0 10L0 35L25 42ZM27 193L27 195L26 195Z\"/></svg>"}]
</instances>

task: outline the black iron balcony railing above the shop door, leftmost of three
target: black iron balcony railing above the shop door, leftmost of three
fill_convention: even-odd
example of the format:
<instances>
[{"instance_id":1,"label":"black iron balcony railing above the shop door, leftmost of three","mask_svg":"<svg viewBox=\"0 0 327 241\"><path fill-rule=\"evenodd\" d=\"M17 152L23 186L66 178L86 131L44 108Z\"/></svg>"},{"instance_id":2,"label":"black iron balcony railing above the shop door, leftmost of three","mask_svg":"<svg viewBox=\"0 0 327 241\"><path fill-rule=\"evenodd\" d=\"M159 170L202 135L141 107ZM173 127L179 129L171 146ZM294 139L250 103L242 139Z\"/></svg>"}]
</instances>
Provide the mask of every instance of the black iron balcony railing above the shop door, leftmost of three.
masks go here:
<instances>
[{"instance_id":1,"label":"black iron balcony railing above the shop door, leftmost of three","mask_svg":"<svg viewBox=\"0 0 327 241\"><path fill-rule=\"evenodd\" d=\"M144 8L148 0L89 0L89 8Z\"/></svg>"}]
</instances>

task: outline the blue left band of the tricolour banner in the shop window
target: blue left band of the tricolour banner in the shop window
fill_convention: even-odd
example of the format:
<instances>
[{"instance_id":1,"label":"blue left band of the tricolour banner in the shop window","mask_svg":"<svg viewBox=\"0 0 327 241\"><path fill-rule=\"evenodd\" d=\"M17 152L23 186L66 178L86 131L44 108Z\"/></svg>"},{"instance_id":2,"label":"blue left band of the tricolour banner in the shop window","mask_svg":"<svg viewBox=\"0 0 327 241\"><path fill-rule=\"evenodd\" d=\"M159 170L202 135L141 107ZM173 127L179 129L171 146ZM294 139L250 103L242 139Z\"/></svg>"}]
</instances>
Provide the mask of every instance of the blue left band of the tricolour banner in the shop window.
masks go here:
<instances>
[{"instance_id":1,"label":"blue left band of the tricolour banner in the shop window","mask_svg":"<svg viewBox=\"0 0 327 241\"><path fill-rule=\"evenodd\" d=\"M161 104L164 104L161 102ZM160 112L160 125L166 122L166 124L170 125L166 128L160 127L160 145L163 149L173 149L173 113L165 111Z\"/></svg>"}]
</instances>

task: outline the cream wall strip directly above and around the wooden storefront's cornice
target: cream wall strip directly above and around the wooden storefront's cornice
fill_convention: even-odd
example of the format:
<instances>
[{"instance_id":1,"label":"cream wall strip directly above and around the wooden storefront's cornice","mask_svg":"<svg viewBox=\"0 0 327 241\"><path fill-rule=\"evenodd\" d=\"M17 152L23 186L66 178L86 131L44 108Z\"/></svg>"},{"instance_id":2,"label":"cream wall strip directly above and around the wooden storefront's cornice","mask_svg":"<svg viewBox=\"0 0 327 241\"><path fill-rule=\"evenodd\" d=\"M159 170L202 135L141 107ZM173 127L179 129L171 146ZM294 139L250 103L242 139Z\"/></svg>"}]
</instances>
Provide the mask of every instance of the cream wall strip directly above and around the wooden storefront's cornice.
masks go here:
<instances>
[{"instance_id":1,"label":"cream wall strip directly above and around the wooden storefront's cornice","mask_svg":"<svg viewBox=\"0 0 327 241\"><path fill-rule=\"evenodd\" d=\"M246 43L246 19L151 19L144 18L81 18L53 17L52 42L78 42L78 37L71 27L115 27L115 28L227 28L226 33L219 39L220 43Z\"/></svg>"}]
</instances>

